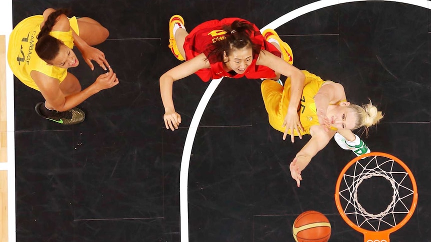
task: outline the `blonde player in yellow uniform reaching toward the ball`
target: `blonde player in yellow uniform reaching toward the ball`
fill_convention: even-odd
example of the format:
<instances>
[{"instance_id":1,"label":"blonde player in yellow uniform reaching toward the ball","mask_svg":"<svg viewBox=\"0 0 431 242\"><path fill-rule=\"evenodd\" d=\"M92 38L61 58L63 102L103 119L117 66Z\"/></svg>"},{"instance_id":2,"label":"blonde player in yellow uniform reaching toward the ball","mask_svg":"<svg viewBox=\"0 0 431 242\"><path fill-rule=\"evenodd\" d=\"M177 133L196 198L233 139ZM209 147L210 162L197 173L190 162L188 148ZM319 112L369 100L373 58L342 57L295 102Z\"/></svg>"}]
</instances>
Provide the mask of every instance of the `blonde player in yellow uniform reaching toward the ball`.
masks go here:
<instances>
[{"instance_id":1,"label":"blonde player in yellow uniform reaching toward the ball","mask_svg":"<svg viewBox=\"0 0 431 242\"><path fill-rule=\"evenodd\" d=\"M287 134L291 135L291 142L294 141L294 136L302 138L302 135L311 135L311 139L290 163L290 173L298 187L302 180L301 171L334 136L341 148L352 150L357 156L368 153L368 147L352 130L365 127L367 133L368 128L383 117L371 102L362 107L347 102L344 88L340 83L323 81L308 71L302 72L305 75L305 82L297 110L302 127L293 132L290 127L285 127L290 79L287 78L284 86L273 80L264 80L261 84L269 124L284 133L283 139Z\"/></svg>"}]
</instances>

